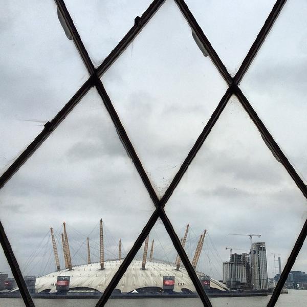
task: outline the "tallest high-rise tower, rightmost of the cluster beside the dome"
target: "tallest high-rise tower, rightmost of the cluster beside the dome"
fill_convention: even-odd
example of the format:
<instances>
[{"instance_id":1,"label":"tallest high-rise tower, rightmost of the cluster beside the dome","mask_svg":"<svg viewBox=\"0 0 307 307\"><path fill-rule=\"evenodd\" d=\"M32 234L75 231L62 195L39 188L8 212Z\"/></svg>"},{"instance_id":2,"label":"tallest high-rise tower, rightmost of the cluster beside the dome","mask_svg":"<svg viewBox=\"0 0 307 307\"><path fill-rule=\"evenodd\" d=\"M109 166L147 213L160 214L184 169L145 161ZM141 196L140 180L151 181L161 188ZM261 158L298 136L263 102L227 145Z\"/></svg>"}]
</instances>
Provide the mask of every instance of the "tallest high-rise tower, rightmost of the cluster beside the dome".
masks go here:
<instances>
[{"instance_id":1,"label":"tallest high-rise tower, rightmost of the cluster beside the dome","mask_svg":"<svg viewBox=\"0 0 307 307\"><path fill-rule=\"evenodd\" d=\"M267 251L265 242L255 242L251 249L252 286L255 290L268 289Z\"/></svg>"}]
</instances>

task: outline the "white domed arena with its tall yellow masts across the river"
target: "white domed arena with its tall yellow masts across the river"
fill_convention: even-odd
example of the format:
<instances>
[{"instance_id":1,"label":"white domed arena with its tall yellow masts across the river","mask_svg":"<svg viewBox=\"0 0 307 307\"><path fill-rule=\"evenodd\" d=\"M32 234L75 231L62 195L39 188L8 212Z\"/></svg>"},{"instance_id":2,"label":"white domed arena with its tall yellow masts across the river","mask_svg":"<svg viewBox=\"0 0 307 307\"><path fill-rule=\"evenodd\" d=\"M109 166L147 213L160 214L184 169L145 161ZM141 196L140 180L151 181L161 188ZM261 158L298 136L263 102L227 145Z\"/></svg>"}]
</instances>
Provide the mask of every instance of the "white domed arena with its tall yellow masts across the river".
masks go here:
<instances>
[{"instance_id":1,"label":"white domed arena with its tall yellow masts across the river","mask_svg":"<svg viewBox=\"0 0 307 307\"><path fill-rule=\"evenodd\" d=\"M189 225L187 225L182 246L187 240ZM195 254L192 260L194 269L198 264L206 230L201 234ZM64 253L65 268L60 268L60 261L53 229L51 228L51 238L57 271L36 278L36 293L55 293L55 292L104 292L112 277L118 270L123 260L121 256L121 241L119 241L118 258L113 260L104 259L103 223L100 220L100 261L91 262L90 242L87 238L87 264L73 266L71 260L69 238L65 223L61 234L62 247ZM150 246L150 252L148 248ZM144 244L143 257L131 262L124 273L122 279L116 287L117 293L159 293L159 292L194 292L195 288L190 280L187 271L181 264L181 259L177 256L174 263L155 259L154 242L149 244L149 237ZM210 278L202 272L197 272L201 283L205 289L227 291L224 283Z\"/></svg>"}]
</instances>

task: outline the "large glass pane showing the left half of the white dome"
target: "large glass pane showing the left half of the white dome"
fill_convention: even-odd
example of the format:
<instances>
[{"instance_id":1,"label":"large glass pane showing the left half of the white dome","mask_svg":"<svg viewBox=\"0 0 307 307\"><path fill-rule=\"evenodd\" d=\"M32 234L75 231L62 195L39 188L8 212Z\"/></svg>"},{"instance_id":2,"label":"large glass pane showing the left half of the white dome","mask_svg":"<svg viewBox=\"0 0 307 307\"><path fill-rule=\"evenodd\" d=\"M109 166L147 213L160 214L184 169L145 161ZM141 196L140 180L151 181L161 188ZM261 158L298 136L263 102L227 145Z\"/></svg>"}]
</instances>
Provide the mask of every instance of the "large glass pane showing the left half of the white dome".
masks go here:
<instances>
[{"instance_id":1,"label":"large glass pane showing the left half of the white dome","mask_svg":"<svg viewBox=\"0 0 307 307\"><path fill-rule=\"evenodd\" d=\"M70 276L68 294L98 297L119 267L119 239L124 256L155 209L94 89L2 188L0 205L21 271L37 277L36 292L66 290L56 288L60 275Z\"/></svg>"}]
</instances>

